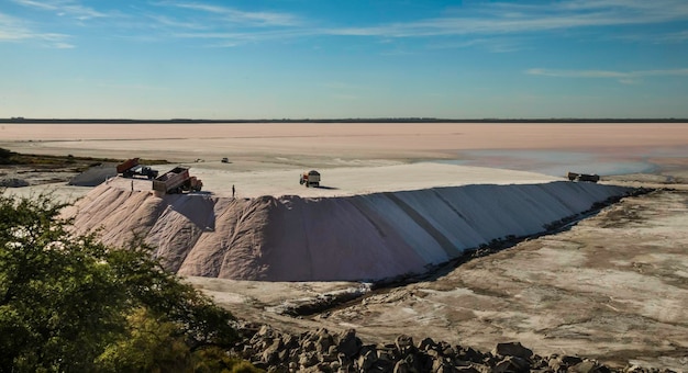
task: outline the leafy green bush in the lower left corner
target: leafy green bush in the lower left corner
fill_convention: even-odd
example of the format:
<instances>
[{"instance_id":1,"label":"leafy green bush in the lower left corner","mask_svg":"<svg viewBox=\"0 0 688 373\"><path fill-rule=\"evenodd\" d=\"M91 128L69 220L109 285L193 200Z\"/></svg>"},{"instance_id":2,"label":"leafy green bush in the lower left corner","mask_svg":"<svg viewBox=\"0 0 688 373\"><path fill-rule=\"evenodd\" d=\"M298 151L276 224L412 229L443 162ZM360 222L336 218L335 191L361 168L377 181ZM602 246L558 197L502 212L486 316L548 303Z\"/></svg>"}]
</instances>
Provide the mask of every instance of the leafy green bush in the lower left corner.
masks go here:
<instances>
[{"instance_id":1,"label":"leafy green bush in the lower left corner","mask_svg":"<svg viewBox=\"0 0 688 373\"><path fill-rule=\"evenodd\" d=\"M74 235L63 207L0 193L0 371L193 371L236 341L233 316L148 248Z\"/></svg>"}]
</instances>

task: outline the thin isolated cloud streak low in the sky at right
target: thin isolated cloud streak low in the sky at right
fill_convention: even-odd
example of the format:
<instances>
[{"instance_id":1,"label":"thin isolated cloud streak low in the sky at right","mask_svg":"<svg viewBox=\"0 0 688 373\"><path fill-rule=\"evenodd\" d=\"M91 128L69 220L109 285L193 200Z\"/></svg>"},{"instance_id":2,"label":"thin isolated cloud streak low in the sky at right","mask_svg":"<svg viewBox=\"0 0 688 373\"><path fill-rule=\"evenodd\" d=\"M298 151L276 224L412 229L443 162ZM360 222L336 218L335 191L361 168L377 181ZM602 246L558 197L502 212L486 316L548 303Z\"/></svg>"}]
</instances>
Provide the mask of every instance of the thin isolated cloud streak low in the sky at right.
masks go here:
<instances>
[{"instance_id":1,"label":"thin isolated cloud streak low in the sky at right","mask_svg":"<svg viewBox=\"0 0 688 373\"><path fill-rule=\"evenodd\" d=\"M637 71L614 71L614 70L555 70L533 68L525 70L528 75L556 77L556 78L598 78L617 79L622 83L636 83L637 79L644 77L688 77L686 69L668 70L637 70Z\"/></svg>"}]
</instances>

